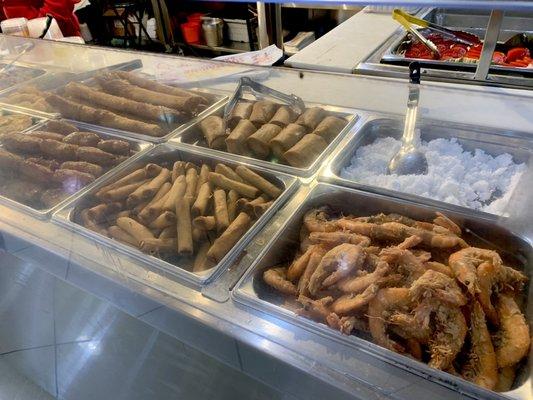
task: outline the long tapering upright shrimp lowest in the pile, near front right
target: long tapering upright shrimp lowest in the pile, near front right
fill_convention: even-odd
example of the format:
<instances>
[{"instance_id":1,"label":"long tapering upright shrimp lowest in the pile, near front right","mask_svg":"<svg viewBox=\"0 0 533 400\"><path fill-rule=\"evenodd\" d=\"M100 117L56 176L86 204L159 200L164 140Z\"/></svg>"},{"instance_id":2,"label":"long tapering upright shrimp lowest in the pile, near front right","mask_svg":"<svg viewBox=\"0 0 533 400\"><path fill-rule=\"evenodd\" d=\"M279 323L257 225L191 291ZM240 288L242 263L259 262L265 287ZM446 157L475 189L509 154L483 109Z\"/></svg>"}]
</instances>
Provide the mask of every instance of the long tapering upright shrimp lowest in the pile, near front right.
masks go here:
<instances>
[{"instance_id":1,"label":"long tapering upright shrimp lowest in the pile, near front right","mask_svg":"<svg viewBox=\"0 0 533 400\"><path fill-rule=\"evenodd\" d=\"M462 374L476 385L492 390L498 383L498 365L485 313L477 301L474 301L470 313L470 342L471 348Z\"/></svg>"}]
</instances>

